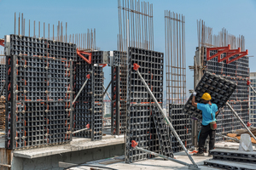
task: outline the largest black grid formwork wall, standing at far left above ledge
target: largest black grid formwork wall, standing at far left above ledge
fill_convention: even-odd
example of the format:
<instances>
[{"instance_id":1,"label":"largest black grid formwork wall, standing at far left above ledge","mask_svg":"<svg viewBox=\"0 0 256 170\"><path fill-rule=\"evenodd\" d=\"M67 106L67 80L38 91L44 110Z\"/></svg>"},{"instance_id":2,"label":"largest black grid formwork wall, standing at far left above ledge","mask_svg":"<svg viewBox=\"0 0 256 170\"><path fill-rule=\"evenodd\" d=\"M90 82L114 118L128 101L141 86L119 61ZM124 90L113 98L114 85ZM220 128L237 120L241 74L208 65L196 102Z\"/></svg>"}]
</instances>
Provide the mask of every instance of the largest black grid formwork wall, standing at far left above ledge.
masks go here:
<instances>
[{"instance_id":1,"label":"largest black grid formwork wall, standing at far left above ledge","mask_svg":"<svg viewBox=\"0 0 256 170\"><path fill-rule=\"evenodd\" d=\"M5 51L10 54L6 56L7 149L72 140L67 132L73 125L75 48L70 43L10 35L10 53Z\"/></svg>"}]
</instances>

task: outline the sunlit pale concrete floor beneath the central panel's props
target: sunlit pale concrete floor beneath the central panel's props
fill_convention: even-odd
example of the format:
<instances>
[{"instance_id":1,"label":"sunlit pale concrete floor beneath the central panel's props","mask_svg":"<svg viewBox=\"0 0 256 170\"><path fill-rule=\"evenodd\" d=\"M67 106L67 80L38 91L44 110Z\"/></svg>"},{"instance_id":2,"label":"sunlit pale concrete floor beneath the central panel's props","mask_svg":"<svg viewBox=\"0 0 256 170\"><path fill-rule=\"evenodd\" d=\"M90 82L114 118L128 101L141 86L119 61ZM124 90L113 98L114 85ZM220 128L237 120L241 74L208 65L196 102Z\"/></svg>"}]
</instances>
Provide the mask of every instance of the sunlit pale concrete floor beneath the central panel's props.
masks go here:
<instances>
[{"instance_id":1,"label":"sunlit pale concrete floor beneath the central panel's props","mask_svg":"<svg viewBox=\"0 0 256 170\"><path fill-rule=\"evenodd\" d=\"M205 154L205 155L207 155L207 154ZM177 160L185 161L185 162L191 164L191 161L189 161L189 158L188 158L188 156L186 156L185 152L176 153L176 154L174 154L174 156L176 157ZM204 166L204 161L212 159L209 156L192 156L192 157L193 157L195 163L197 165L199 165L201 170L218 169L218 168L214 168L214 167ZM116 158L112 158L112 159L116 159ZM120 169L120 170L188 169L188 167L186 167L186 166L183 166L183 165L178 164L173 161L165 161L162 158L148 159L145 161L136 161L131 164L127 164L127 163L125 163L125 161L121 161L121 162L113 163L110 165L103 165L103 164L101 164L102 161L106 161L106 160L90 161L90 162L87 162L86 164L100 166L100 167L112 167L114 169ZM82 170L82 169L89 169L89 168L87 166L81 166L81 167L72 167L70 169L71 170Z\"/></svg>"}]
</instances>

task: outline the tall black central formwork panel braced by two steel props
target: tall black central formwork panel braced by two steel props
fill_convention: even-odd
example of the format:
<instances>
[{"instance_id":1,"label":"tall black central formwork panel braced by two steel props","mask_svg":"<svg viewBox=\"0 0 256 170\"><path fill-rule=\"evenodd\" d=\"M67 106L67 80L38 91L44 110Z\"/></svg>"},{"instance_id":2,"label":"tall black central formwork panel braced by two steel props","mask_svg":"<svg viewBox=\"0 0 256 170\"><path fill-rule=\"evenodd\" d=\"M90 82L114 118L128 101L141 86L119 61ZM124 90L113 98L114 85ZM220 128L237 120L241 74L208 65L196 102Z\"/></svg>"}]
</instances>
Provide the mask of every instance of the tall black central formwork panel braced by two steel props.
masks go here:
<instances>
[{"instance_id":1,"label":"tall black central formwork panel braced by two steel props","mask_svg":"<svg viewBox=\"0 0 256 170\"><path fill-rule=\"evenodd\" d=\"M151 88L158 102L163 98L163 54L142 48L128 48L128 96L125 142L125 162L131 163L149 158L147 153L134 150L131 140L136 140L138 147L160 153L160 143L154 118L151 115L154 106L147 89L144 87L133 64L140 65L139 71ZM153 64L154 61L154 64ZM156 110L155 110L156 111Z\"/></svg>"}]
</instances>

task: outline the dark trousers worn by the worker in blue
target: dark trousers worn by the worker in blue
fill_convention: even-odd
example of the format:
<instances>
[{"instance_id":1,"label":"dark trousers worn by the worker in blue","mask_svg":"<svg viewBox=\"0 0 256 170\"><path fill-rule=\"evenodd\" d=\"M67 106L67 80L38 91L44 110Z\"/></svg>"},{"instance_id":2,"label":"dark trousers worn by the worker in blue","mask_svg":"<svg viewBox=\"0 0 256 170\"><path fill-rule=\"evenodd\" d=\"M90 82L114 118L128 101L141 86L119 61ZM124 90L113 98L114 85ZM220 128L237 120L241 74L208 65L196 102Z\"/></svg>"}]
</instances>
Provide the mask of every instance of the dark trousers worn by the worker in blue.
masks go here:
<instances>
[{"instance_id":1,"label":"dark trousers worn by the worker in blue","mask_svg":"<svg viewBox=\"0 0 256 170\"><path fill-rule=\"evenodd\" d=\"M216 131L211 129L210 124L208 124L207 126L201 125L201 131L199 134L199 141L198 141L198 145L199 145L198 152L199 153L204 152L204 145L206 144L208 135L210 136L209 150L214 149L215 133L216 133Z\"/></svg>"}]
</instances>

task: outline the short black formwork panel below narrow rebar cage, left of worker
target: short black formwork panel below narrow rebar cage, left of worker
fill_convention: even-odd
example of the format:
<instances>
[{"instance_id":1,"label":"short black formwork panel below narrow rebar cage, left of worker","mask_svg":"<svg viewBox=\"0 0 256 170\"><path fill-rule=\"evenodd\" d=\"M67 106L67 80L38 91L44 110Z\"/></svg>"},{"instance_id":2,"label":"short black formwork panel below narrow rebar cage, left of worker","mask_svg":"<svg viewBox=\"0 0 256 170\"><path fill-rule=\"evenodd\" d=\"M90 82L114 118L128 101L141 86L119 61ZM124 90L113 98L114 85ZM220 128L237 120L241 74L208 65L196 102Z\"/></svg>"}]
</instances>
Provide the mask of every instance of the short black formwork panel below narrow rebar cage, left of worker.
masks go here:
<instances>
[{"instance_id":1,"label":"short black formwork panel below narrow rebar cage, left of worker","mask_svg":"<svg viewBox=\"0 0 256 170\"><path fill-rule=\"evenodd\" d=\"M172 126L177 132L179 138L183 141L183 144L187 149L191 148L191 120L187 114L183 113L182 104L170 104L169 105L169 120L172 122ZM170 130L170 133L172 131ZM183 148L175 137L172 137L172 150L173 152L182 151Z\"/></svg>"}]
</instances>

